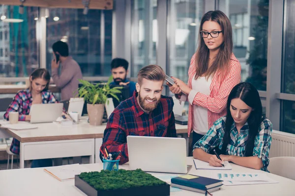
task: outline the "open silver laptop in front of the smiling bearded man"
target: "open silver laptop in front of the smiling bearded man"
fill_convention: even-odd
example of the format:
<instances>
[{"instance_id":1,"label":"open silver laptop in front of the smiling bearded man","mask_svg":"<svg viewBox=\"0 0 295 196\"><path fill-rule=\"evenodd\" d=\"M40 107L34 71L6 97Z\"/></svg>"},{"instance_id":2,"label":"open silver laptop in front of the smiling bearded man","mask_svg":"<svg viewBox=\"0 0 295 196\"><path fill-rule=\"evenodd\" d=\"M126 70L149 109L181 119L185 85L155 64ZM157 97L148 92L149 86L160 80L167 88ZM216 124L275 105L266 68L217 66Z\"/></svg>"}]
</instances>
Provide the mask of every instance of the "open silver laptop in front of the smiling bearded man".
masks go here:
<instances>
[{"instance_id":1,"label":"open silver laptop in front of the smiling bearded man","mask_svg":"<svg viewBox=\"0 0 295 196\"><path fill-rule=\"evenodd\" d=\"M127 136L129 169L145 172L187 173L184 138Z\"/></svg>"}]
</instances>

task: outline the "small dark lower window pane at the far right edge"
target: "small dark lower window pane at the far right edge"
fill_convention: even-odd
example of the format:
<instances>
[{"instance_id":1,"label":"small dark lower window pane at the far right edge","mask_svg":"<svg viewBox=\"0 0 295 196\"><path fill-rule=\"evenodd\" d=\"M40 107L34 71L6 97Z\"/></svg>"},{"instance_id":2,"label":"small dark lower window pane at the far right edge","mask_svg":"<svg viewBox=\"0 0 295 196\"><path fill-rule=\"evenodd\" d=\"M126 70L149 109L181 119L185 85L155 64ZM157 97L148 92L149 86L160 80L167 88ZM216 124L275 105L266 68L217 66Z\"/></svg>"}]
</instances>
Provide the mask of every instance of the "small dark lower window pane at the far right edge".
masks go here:
<instances>
[{"instance_id":1,"label":"small dark lower window pane at the far right edge","mask_svg":"<svg viewBox=\"0 0 295 196\"><path fill-rule=\"evenodd\" d=\"M295 101L284 100L282 131L295 134Z\"/></svg>"}]
</instances>

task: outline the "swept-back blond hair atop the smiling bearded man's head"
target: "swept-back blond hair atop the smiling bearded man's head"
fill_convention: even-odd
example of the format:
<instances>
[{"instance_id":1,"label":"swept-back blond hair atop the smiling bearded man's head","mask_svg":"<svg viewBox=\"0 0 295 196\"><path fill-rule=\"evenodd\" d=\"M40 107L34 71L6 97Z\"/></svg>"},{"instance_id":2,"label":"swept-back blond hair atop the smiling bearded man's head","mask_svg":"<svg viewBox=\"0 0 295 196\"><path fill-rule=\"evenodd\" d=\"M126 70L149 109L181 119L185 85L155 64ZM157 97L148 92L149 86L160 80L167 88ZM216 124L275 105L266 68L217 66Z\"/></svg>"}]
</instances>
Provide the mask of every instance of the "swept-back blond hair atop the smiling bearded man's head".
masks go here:
<instances>
[{"instance_id":1,"label":"swept-back blond hair atop the smiling bearded man's head","mask_svg":"<svg viewBox=\"0 0 295 196\"><path fill-rule=\"evenodd\" d=\"M143 78L153 81L165 81L166 75L158 65L148 65L142 68L137 74L137 82L142 83Z\"/></svg>"}]
</instances>

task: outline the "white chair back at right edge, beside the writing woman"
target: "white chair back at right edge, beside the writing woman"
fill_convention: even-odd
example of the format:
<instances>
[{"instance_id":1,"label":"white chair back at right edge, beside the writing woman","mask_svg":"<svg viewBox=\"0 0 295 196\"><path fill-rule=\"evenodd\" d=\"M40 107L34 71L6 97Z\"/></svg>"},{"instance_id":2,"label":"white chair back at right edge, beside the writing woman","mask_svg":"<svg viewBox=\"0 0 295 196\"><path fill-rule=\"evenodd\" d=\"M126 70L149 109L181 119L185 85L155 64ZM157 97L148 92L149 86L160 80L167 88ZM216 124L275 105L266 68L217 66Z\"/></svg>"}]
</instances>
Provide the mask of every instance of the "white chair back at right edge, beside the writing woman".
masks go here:
<instances>
[{"instance_id":1,"label":"white chair back at right edge, beside the writing woman","mask_svg":"<svg viewBox=\"0 0 295 196\"><path fill-rule=\"evenodd\" d=\"M295 157L282 156L270 158L267 169L270 173L295 180Z\"/></svg>"}]
</instances>

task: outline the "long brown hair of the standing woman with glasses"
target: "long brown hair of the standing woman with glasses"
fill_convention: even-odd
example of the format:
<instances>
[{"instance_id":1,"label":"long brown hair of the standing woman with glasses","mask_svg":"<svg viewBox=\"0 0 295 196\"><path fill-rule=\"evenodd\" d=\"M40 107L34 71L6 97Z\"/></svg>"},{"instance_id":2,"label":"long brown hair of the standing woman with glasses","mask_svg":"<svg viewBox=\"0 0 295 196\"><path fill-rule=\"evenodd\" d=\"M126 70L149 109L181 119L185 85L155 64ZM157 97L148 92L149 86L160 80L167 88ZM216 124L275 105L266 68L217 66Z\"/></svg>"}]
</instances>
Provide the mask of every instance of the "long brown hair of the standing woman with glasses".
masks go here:
<instances>
[{"instance_id":1,"label":"long brown hair of the standing woman with glasses","mask_svg":"<svg viewBox=\"0 0 295 196\"><path fill-rule=\"evenodd\" d=\"M200 32L206 21L214 21L221 27L223 33L223 43L220 45L212 65L209 66L209 49L201 34L199 35L199 47L195 56L196 76L195 79L205 75L207 78L220 71L223 76L228 72L230 58L233 53L233 30L229 18L220 10L208 11L201 19Z\"/></svg>"}]
</instances>

